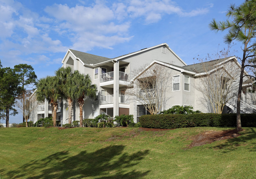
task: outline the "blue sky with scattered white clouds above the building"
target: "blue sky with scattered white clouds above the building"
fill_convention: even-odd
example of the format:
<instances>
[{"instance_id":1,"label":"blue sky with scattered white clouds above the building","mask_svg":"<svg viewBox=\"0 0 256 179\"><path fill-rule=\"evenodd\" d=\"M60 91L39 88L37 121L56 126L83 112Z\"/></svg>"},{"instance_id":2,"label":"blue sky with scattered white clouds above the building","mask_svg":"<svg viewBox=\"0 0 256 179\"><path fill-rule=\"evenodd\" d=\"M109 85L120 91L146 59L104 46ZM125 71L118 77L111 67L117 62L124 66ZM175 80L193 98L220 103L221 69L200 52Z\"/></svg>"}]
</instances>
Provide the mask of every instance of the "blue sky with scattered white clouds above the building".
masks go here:
<instances>
[{"instance_id":1,"label":"blue sky with scattered white clouds above the building","mask_svg":"<svg viewBox=\"0 0 256 179\"><path fill-rule=\"evenodd\" d=\"M0 0L3 67L32 65L37 78L54 75L67 50L113 58L161 43L188 65L227 48L226 31L211 31L241 0ZM232 55L241 57L236 42ZM233 52L235 50L236 52ZM5 123L5 121L0 121ZM22 114L10 116L21 123Z\"/></svg>"}]
</instances>

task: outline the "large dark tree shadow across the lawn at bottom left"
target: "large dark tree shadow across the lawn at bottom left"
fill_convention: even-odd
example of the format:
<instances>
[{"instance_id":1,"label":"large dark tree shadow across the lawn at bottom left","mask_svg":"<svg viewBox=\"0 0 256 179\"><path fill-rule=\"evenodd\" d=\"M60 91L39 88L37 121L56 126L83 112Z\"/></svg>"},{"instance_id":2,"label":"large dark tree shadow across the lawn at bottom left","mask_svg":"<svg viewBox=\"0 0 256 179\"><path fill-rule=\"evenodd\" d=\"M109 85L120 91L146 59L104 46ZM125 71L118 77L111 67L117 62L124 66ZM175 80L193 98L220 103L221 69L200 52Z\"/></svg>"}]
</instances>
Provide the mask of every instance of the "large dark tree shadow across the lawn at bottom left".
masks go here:
<instances>
[{"instance_id":1,"label":"large dark tree shadow across the lawn at bottom left","mask_svg":"<svg viewBox=\"0 0 256 179\"><path fill-rule=\"evenodd\" d=\"M41 160L33 160L6 173L10 178L54 179L54 178L141 178L146 172L131 170L148 154L148 150L132 154L123 153L124 146L113 145L87 153L70 156L68 151L49 155Z\"/></svg>"}]
</instances>

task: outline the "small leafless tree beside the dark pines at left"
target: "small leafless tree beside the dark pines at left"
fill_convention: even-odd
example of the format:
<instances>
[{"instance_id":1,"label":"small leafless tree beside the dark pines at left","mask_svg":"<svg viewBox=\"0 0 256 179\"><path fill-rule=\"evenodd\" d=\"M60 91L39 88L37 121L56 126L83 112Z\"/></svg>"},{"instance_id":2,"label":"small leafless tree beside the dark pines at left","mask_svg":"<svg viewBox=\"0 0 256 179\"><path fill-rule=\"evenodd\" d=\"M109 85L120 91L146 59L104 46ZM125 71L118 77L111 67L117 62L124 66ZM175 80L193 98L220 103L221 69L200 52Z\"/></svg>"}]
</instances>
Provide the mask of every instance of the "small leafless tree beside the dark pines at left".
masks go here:
<instances>
[{"instance_id":1,"label":"small leafless tree beside the dark pines at left","mask_svg":"<svg viewBox=\"0 0 256 179\"><path fill-rule=\"evenodd\" d=\"M23 113L24 120L26 122L26 127L28 127L28 120L32 115L33 111L37 108L36 98L30 98L31 92L27 91L24 94L18 96L16 100L17 108Z\"/></svg>"}]
</instances>

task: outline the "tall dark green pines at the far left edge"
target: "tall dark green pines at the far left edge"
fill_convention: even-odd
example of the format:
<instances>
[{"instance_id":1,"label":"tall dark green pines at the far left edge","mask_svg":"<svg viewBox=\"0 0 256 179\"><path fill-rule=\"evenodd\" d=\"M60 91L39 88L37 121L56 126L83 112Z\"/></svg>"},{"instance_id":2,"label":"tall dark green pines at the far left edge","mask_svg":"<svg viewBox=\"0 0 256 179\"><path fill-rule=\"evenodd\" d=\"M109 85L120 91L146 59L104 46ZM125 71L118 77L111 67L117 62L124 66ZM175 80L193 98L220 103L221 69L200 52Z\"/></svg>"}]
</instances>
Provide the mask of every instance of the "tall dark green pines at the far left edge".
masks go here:
<instances>
[{"instance_id":1,"label":"tall dark green pines at the far left edge","mask_svg":"<svg viewBox=\"0 0 256 179\"><path fill-rule=\"evenodd\" d=\"M17 106L22 111L23 122L28 121L26 114L28 105L27 96L30 96L33 86L37 83L37 76L31 65L19 64L14 68L2 67L0 61L0 120L6 120L6 127L9 127L9 116L17 114Z\"/></svg>"}]
</instances>

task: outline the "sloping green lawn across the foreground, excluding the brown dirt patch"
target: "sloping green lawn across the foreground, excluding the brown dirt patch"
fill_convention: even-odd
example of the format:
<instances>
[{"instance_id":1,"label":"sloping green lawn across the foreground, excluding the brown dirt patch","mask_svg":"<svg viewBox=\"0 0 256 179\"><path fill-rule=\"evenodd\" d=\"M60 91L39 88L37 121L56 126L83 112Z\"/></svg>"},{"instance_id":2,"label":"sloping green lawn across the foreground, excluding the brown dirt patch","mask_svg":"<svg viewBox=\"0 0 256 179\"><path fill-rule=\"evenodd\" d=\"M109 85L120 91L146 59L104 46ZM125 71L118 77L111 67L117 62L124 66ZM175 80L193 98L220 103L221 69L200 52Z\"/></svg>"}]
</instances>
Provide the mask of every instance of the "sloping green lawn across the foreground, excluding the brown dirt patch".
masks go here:
<instances>
[{"instance_id":1,"label":"sloping green lawn across the foreground, excluding the brown dirt patch","mask_svg":"<svg viewBox=\"0 0 256 179\"><path fill-rule=\"evenodd\" d=\"M255 127L187 148L193 135L226 129L232 128L0 128L0 177L256 178Z\"/></svg>"}]
</instances>

